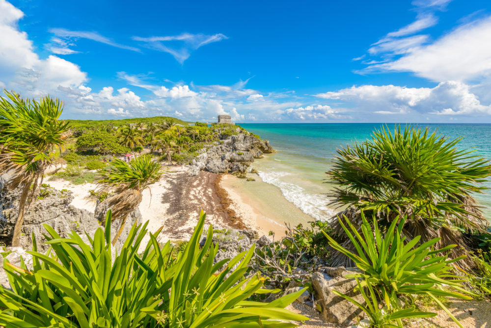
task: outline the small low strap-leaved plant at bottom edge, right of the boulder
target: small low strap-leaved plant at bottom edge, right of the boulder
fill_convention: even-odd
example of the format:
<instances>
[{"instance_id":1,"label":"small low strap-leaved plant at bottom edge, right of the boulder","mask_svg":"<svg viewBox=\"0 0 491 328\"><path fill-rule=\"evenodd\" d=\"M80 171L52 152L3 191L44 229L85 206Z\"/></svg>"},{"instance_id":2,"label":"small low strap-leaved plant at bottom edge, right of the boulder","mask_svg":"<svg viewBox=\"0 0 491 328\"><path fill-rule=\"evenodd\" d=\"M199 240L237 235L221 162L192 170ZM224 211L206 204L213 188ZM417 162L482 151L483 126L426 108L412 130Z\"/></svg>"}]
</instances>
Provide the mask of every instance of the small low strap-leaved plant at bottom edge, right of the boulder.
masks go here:
<instances>
[{"instance_id":1,"label":"small low strap-leaved plant at bottom edge, right of the boulder","mask_svg":"<svg viewBox=\"0 0 491 328\"><path fill-rule=\"evenodd\" d=\"M403 328L401 319L410 319L410 318L431 318L436 316L436 313L433 312L424 312L424 311L416 311L415 308L406 308L406 309L397 309L394 307L385 306L383 308L379 307L379 301L377 299L377 294L375 293L373 287L370 284L367 284L365 287L368 290L368 293L365 291L365 288L361 285L358 278L355 278L356 283L358 285L358 290L365 301L366 305L363 305L356 301L355 299L349 297L346 294L340 293L336 290L332 292L342 298L352 302L361 310L363 310L368 316L368 321L370 323L370 327L373 328ZM394 325L396 324L396 325Z\"/></svg>"}]
</instances>

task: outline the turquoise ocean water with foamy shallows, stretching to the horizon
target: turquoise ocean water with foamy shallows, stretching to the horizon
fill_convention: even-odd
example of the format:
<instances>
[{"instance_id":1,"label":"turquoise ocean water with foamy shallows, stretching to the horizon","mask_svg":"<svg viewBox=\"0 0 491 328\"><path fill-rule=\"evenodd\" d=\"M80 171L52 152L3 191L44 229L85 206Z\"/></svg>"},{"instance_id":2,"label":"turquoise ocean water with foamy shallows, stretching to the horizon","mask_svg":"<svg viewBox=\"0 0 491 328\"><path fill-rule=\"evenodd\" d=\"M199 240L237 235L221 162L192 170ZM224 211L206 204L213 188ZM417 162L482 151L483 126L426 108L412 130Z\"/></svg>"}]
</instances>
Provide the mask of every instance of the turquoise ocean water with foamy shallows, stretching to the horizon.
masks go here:
<instances>
[{"instance_id":1,"label":"turquoise ocean water with foamy shallows, stretching to the horizon","mask_svg":"<svg viewBox=\"0 0 491 328\"><path fill-rule=\"evenodd\" d=\"M328 206L327 193L332 188L325 172L339 147L370 138L382 123L274 123L240 124L270 141L274 154L254 162L261 179L281 192L290 203L313 219L328 219L337 212ZM437 130L442 136L464 137L458 148L474 148L475 155L491 160L491 124L417 124ZM387 124L393 130L394 124ZM485 183L491 188L491 181ZM477 194L491 220L491 190Z\"/></svg>"}]
</instances>

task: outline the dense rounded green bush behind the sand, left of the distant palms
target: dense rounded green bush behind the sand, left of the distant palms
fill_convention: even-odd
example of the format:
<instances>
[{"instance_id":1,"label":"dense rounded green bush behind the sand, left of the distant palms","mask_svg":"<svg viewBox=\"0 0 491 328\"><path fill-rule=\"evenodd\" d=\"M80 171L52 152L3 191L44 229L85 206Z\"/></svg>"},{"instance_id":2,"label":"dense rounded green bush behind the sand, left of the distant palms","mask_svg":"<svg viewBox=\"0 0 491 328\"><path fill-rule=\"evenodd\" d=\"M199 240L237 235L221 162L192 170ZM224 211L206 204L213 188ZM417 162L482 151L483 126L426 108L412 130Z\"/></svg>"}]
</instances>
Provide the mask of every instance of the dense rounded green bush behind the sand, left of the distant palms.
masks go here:
<instances>
[{"instance_id":1,"label":"dense rounded green bush behind the sand, left of the distant palms","mask_svg":"<svg viewBox=\"0 0 491 328\"><path fill-rule=\"evenodd\" d=\"M94 152L98 154L123 154L130 151L122 146L113 133L104 130L89 131L78 137L77 151Z\"/></svg>"}]
</instances>

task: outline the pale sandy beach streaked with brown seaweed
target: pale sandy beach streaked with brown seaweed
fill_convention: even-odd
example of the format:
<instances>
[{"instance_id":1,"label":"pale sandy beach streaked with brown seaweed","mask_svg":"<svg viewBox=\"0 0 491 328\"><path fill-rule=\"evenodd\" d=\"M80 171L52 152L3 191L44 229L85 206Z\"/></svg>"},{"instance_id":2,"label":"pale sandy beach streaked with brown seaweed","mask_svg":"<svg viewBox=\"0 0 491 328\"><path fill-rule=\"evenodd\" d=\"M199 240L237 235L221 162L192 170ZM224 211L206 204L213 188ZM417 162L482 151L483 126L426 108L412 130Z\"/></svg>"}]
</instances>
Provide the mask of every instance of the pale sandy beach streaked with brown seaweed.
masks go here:
<instances>
[{"instance_id":1,"label":"pale sandy beach streaked with brown seaweed","mask_svg":"<svg viewBox=\"0 0 491 328\"><path fill-rule=\"evenodd\" d=\"M166 169L159 182L143 191L143 200L138 207L143 221L149 221L150 232L163 227L159 242L189 239L201 210L206 213L206 223L217 228L247 228L256 230L259 235L267 235L269 231L275 236L284 234L282 218L238 188L236 183L241 179L205 171L191 176L183 166ZM89 191L96 190L97 185L73 185L63 179L49 179L47 183L58 190L73 191L71 205L94 212L96 200L90 197Z\"/></svg>"}]
</instances>

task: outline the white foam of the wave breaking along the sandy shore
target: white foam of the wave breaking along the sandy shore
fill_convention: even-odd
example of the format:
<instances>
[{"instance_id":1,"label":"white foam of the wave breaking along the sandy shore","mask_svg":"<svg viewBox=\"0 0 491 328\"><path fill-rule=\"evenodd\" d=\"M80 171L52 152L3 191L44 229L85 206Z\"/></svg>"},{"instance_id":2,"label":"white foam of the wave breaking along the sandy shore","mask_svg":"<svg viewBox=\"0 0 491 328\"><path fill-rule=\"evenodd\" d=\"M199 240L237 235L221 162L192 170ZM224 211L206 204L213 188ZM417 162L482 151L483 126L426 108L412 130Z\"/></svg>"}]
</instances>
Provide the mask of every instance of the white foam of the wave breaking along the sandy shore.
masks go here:
<instances>
[{"instance_id":1,"label":"white foam of the wave breaking along the sandy shore","mask_svg":"<svg viewBox=\"0 0 491 328\"><path fill-rule=\"evenodd\" d=\"M309 193L302 187L281 179L289 174L287 172L259 171L259 176L264 182L278 187L286 200L300 208L303 213L323 221L336 214L335 211L327 207L328 199L325 195Z\"/></svg>"}]
</instances>

